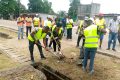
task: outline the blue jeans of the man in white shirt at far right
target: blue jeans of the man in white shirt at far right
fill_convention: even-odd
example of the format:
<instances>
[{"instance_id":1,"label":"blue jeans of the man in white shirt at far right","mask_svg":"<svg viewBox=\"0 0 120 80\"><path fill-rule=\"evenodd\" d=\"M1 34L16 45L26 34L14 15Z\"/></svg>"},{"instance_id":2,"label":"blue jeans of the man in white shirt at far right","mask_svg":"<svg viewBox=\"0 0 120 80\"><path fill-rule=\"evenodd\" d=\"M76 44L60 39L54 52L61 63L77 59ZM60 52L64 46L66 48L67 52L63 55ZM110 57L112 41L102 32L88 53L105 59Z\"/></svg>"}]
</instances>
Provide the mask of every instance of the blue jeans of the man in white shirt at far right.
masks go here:
<instances>
[{"instance_id":1,"label":"blue jeans of the man in white shirt at far right","mask_svg":"<svg viewBox=\"0 0 120 80\"><path fill-rule=\"evenodd\" d=\"M113 48L112 48L112 49L115 49L116 40L117 40L117 33L110 32L110 33L109 33L109 41L108 41L108 48L109 48L109 49L110 49L110 46L111 46L112 41L113 41Z\"/></svg>"}]
</instances>

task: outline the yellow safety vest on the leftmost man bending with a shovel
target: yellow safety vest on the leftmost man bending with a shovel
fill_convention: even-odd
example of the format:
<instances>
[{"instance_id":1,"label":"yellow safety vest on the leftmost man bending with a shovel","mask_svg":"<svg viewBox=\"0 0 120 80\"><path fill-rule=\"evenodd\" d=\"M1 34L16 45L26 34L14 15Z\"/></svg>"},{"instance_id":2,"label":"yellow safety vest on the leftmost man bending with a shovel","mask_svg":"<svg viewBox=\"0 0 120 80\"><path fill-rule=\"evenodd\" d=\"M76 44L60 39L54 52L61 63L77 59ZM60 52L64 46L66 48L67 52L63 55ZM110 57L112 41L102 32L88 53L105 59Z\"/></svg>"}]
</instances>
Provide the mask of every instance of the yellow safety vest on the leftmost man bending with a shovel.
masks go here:
<instances>
[{"instance_id":1,"label":"yellow safety vest on the leftmost man bending with a shovel","mask_svg":"<svg viewBox=\"0 0 120 80\"><path fill-rule=\"evenodd\" d=\"M46 37L46 33L42 32L42 28L39 28L38 31L34 35L35 40L43 39L45 37ZM28 35L28 40L32 42L34 41L34 39L32 38L30 34Z\"/></svg>"}]
</instances>

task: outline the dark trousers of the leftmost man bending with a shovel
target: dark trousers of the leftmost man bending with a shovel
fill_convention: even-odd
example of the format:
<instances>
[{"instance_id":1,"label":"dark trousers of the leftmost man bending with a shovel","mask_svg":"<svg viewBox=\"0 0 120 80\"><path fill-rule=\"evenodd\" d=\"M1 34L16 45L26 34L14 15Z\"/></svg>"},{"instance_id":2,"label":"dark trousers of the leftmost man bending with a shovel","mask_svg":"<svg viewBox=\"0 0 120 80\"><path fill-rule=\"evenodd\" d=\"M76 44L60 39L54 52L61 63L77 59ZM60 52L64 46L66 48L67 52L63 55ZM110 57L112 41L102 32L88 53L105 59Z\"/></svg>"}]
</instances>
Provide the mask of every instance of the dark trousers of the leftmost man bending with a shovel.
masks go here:
<instances>
[{"instance_id":1,"label":"dark trousers of the leftmost man bending with a shovel","mask_svg":"<svg viewBox=\"0 0 120 80\"><path fill-rule=\"evenodd\" d=\"M34 61L34 56L33 56L34 44L35 44L35 42L29 41L29 51L30 51L31 61ZM44 55L43 55L43 52L42 52L41 43L38 41L38 44L36 44L36 45L37 45L37 47L38 47L38 49L39 49L41 58L44 58Z\"/></svg>"}]
</instances>

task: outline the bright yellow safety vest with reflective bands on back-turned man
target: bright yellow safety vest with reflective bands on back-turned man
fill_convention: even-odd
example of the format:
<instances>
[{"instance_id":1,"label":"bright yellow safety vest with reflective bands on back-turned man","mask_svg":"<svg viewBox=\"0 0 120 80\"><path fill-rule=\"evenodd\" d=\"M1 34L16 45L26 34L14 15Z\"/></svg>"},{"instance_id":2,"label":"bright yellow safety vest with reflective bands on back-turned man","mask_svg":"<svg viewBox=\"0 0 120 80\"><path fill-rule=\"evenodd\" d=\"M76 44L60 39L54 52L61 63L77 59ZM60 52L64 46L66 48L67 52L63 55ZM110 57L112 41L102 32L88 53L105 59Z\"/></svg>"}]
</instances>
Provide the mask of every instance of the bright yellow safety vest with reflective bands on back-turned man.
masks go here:
<instances>
[{"instance_id":1,"label":"bright yellow safety vest with reflective bands on back-turned man","mask_svg":"<svg viewBox=\"0 0 120 80\"><path fill-rule=\"evenodd\" d=\"M84 30L85 48L97 48L99 35L97 34L97 25L90 25Z\"/></svg>"}]
</instances>

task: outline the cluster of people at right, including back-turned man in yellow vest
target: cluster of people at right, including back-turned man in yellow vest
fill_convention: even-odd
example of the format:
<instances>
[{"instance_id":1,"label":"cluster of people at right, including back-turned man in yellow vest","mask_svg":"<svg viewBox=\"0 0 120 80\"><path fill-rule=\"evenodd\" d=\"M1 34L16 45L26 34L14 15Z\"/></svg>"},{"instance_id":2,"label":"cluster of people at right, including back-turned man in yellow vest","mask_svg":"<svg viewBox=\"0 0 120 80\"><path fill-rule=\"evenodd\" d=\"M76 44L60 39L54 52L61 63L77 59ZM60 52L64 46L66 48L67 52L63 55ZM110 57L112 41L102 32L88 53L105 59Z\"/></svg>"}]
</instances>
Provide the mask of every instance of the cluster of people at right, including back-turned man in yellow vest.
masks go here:
<instances>
[{"instance_id":1,"label":"cluster of people at right, including back-turned man in yellow vest","mask_svg":"<svg viewBox=\"0 0 120 80\"><path fill-rule=\"evenodd\" d=\"M110 50L111 44L113 43L112 50L116 51L116 40L117 36L120 35L120 22L117 16L113 16L113 19L109 21L108 26L106 25L103 14L96 15L94 18L85 17L84 20L80 21L76 33L78 34L77 45L83 39L82 49L84 49L84 57L82 61L82 69L86 71L88 59L90 58L89 71L90 74L94 73L94 58L97 51L97 47L101 49L104 35L109 30L108 48ZM119 37L119 36L118 36ZM99 45L98 45L98 42ZM82 53L80 53L82 54ZM80 55L80 59L81 55Z\"/></svg>"}]
</instances>

